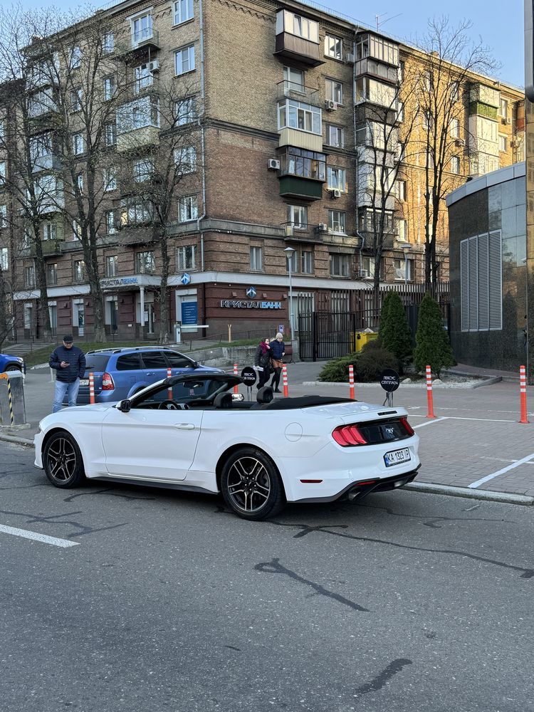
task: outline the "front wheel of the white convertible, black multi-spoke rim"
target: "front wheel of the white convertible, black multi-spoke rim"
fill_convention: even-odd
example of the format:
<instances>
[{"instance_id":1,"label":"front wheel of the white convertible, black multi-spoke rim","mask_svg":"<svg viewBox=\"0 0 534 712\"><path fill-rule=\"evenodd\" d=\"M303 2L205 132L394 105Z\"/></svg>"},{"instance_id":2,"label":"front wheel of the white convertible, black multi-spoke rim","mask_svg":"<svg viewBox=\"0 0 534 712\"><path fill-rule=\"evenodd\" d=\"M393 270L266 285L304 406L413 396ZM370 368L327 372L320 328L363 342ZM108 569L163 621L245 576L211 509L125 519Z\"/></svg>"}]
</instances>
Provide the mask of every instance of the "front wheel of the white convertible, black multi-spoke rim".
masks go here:
<instances>
[{"instance_id":1,"label":"front wheel of the white convertible, black multi-spoke rim","mask_svg":"<svg viewBox=\"0 0 534 712\"><path fill-rule=\"evenodd\" d=\"M64 430L57 431L46 441L43 468L53 486L61 489L77 487L85 481L78 443Z\"/></svg>"}]
</instances>

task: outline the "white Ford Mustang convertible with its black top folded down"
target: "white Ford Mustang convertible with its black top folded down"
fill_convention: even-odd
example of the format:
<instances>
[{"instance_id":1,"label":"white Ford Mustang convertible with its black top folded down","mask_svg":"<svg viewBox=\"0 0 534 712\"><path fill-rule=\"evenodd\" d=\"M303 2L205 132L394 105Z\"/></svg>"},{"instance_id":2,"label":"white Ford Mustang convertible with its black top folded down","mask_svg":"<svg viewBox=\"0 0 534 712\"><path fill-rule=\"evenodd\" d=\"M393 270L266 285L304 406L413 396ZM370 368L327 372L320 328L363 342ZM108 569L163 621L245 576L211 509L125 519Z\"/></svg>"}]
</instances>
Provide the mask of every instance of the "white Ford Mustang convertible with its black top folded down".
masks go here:
<instances>
[{"instance_id":1,"label":"white Ford Mustang convertible with its black top folded down","mask_svg":"<svg viewBox=\"0 0 534 712\"><path fill-rule=\"evenodd\" d=\"M286 502L362 498L411 482L419 438L402 408L309 395L238 400L241 378L211 373L159 381L117 404L48 415L35 464L56 487L85 478L222 493L245 519Z\"/></svg>"}]
</instances>

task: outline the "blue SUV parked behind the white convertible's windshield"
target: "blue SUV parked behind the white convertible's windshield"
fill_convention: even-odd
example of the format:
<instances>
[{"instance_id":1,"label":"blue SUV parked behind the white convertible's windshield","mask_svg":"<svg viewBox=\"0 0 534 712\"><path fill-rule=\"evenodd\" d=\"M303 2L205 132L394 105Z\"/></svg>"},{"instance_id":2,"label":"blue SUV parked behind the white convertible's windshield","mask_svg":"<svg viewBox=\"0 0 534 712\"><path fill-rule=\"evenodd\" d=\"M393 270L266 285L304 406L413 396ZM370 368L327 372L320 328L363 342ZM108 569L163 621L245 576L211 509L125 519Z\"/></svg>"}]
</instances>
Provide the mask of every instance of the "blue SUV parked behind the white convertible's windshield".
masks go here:
<instances>
[{"instance_id":1,"label":"blue SUV parked behind the white convertible's windshield","mask_svg":"<svg viewBox=\"0 0 534 712\"><path fill-rule=\"evenodd\" d=\"M95 403L112 403L130 398L145 386L172 375L190 372L214 373L219 368L201 366L172 349L157 346L101 349L85 354L85 377L80 379L78 404L89 403L89 374L95 377Z\"/></svg>"}]
</instances>

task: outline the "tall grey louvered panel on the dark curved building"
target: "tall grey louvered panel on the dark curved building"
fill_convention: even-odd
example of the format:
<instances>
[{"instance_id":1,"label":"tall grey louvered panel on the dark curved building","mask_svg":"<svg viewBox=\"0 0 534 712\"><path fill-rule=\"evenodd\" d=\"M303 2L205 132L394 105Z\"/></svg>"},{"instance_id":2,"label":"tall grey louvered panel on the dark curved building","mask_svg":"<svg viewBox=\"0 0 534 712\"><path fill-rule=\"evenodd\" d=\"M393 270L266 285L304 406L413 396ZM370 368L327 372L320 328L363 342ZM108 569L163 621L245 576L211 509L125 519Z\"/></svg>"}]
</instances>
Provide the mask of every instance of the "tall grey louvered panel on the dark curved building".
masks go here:
<instances>
[{"instance_id":1,"label":"tall grey louvered panel on the dark curved building","mask_svg":"<svg viewBox=\"0 0 534 712\"><path fill-rule=\"evenodd\" d=\"M501 231L460 242L462 331L503 328Z\"/></svg>"}]
</instances>

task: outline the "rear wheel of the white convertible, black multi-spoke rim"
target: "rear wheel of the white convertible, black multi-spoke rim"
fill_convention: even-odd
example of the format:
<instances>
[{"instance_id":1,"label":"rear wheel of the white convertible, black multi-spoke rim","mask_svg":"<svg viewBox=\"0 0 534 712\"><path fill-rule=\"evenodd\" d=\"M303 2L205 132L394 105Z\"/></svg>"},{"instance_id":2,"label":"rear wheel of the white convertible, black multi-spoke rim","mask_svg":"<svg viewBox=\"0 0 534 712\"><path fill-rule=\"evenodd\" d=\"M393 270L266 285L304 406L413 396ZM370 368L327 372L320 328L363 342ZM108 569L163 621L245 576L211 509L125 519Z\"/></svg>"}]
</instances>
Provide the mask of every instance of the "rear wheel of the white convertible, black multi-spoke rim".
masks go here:
<instances>
[{"instance_id":1,"label":"rear wheel of the white convertible, black multi-spoke rim","mask_svg":"<svg viewBox=\"0 0 534 712\"><path fill-rule=\"evenodd\" d=\"M241 447L226 460L221 471L221 492L231 511L248 520L272 517L286 504L276 465L254 447Z\"/></svg>"}]
</instances>

